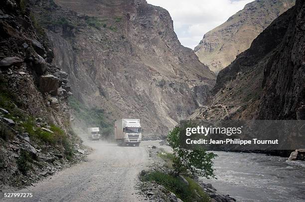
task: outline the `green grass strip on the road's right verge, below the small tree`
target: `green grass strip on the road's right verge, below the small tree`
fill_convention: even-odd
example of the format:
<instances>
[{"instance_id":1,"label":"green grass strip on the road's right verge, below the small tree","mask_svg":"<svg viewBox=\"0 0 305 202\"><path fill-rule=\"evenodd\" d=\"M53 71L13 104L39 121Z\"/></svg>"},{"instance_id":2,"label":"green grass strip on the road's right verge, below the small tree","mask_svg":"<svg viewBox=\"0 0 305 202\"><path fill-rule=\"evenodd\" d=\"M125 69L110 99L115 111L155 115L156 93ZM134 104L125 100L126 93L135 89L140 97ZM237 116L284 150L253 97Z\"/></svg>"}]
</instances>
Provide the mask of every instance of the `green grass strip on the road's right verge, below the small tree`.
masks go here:
<instances>
[{"instance_id":1,"label":"green grass strip on the road's right verge, below the small tree","mask_svg":"<svg viewBox=\"0 0 305 202\"><path fill-rule=\"evenodd\" d=\"M164 186L169 192L174 193L183 202L209 202L210 200L200 185L190 178L187 178L189 182L189 185L187 185L179 177L153 171L143 176L141 180L146 182L155 181L158 185Z\"/></svg>"}]
</instances>

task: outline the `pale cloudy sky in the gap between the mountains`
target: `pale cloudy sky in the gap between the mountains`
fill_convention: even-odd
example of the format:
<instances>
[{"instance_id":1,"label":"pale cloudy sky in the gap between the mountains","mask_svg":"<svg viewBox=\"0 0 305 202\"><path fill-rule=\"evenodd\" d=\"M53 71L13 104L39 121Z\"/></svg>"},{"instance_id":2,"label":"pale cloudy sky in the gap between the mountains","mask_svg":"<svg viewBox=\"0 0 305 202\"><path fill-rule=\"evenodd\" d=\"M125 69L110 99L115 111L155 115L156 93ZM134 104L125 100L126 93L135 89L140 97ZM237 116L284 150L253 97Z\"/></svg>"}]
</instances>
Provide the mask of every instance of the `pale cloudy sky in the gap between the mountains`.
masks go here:
<instances>
[{"instance_id":1,"label":"pale cloudy sky in the gap between the mountains","mask_svg":"<svg viewBox=\"0 0 305 202\"><path fill-rule=\"evenodd\" d=\"M169 11L183 46L194 49L203 35L253 0L147 0Z\"/></svg>"}]
</instances>

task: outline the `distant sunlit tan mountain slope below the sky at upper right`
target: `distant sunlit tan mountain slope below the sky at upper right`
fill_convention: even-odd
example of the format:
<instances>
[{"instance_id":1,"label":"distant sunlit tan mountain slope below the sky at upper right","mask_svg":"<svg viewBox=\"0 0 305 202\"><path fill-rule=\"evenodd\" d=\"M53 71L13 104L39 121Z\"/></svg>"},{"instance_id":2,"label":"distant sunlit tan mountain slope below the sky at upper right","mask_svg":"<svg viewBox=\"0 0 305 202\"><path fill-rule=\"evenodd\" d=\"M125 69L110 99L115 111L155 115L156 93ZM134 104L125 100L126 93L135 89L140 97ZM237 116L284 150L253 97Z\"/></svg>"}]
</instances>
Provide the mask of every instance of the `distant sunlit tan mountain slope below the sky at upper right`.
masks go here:
<instances>
[{"instance_id":1,"label":"distant sunlit tan mountain slope below the sky at upper right","mask_svg":"<svg viewBox=\"0 0 305 202\"><path fill-rule=\"evenodd\" d=\"M248 49L259 33L291 8L295 0L255 0L225 23L207 32L195 53L199 60L218 73Z\"/></svg>"}]
</instances>

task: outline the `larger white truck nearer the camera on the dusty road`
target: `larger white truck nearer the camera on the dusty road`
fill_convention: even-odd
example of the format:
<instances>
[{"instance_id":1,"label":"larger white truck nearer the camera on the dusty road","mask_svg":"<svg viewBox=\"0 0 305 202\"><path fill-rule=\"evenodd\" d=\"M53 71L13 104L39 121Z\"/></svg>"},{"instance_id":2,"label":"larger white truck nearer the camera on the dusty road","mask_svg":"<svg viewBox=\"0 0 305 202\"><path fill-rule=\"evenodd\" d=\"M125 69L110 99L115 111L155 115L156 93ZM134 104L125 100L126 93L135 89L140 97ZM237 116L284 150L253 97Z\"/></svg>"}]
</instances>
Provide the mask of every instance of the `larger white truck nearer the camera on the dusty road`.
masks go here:
<instances>
[{"instance_id":1,"label":"larger white truck nearer the camera on the dusty road","mask_svg":"<svg viewBox=\"0 0 305 202\"><path fill-rule=\"evenodd\" d=\"M139 146L142 140L140 119L121 119L115 122L115 139L118 145Z\"/></svg>"}]
</instances>

